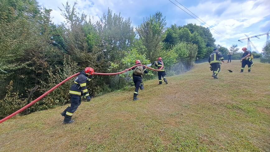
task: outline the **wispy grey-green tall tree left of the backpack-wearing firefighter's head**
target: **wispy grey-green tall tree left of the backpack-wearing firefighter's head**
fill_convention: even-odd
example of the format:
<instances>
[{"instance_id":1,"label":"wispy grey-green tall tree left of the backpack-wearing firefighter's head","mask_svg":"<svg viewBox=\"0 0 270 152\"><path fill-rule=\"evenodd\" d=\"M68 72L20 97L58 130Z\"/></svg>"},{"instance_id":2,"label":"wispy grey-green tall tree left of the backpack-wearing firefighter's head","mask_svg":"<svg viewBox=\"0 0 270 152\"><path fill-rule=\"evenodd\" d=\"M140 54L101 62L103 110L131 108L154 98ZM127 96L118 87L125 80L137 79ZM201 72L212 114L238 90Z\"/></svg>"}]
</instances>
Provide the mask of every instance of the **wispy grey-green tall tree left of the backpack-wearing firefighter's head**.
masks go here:
<instances>
[{"instance_id":1,"label":"wispy grey-green tall tree left of the backpack-wearing firefighter's head","mask_svg":"<svg viewBox=\"0 0 270 152\"><path fill-rule=\"evenodd\" d=\"M130 18L124 20L121 14L112 14L108 8L101 21L97 21L96 28L104 47L103 53L107 60L120 61L127 49L133 45L135 32Z\"/></svg>"}]
</instances>

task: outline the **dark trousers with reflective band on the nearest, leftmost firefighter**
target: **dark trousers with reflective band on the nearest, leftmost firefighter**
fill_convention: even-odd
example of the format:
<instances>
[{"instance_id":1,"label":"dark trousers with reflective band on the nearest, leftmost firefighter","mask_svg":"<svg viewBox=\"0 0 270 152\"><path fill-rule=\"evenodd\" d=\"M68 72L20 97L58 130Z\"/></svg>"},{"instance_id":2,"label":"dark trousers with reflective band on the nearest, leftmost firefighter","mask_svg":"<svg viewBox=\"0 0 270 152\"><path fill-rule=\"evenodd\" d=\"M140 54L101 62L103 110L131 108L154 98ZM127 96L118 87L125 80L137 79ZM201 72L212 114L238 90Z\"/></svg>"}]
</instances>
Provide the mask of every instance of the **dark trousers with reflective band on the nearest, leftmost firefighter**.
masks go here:
<instances>
[{"instance_id":1,"label":"dark trousers with reflective band on the nearest, leftmost firefighter","mask_svg":"<svg viewBox=\"0 0 270 152\"><path fill-rule=\"evenodd\" d=\"M70 106L62 112L62 114L65 114L64 122L69 122L71 120L73 113L81 104L81 96L70 95L70 102Z\"/></svg>"}]
</instances>

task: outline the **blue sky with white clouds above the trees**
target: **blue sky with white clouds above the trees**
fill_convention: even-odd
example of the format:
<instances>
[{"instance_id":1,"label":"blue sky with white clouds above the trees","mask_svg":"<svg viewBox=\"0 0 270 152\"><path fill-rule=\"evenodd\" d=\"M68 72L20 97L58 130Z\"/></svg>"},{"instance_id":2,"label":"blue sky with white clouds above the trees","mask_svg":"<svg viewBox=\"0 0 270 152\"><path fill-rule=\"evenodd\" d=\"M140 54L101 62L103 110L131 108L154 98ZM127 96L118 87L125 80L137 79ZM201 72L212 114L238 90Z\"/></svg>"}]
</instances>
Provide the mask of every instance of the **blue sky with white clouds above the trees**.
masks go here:
<instances>
[{"instance_id":1,"label":"blue sky with white clouds above the trees","mask_svg":"<svg viewBox=\"0 0 270 152\"><path fill-rule=\"evenodd\" d=\"M64 17L61 15L59 8L63 9L66 0L37 0L42 7L52 9L51 17L55 24L61 24ZM124 18L130 17L134 29L140 25L144 18L149 17L155 12L161 12L166 17L167 27L172 24L178 26L187 23L196 23L205 26L196 19L189 16L179 7L187 7L192 13L205 21L215 31L221 33L218 35L211 30L216 44L230 48L232 44L237 44L239 48L247 47L247 40L243 43L238 42L239 39L248 36L267 33L270 30L270 1L269 0L69 0L69 4L73 5L77 2L77 12L90 16L94 22L98 21L103 13L107 13L108 8L113 13ZM188 12L186 10L186 12ZM189 12L190 13L190 12ZM191 14L191 13L190 13ZM191 14L192 15L192 14ZM262 48L266 42L266 35L258 38L250 39L257 50L262 52ZM241 50L241 49L240 49ZM254 49L252 48L252 51Z\"/></svg>"}]
</instances>

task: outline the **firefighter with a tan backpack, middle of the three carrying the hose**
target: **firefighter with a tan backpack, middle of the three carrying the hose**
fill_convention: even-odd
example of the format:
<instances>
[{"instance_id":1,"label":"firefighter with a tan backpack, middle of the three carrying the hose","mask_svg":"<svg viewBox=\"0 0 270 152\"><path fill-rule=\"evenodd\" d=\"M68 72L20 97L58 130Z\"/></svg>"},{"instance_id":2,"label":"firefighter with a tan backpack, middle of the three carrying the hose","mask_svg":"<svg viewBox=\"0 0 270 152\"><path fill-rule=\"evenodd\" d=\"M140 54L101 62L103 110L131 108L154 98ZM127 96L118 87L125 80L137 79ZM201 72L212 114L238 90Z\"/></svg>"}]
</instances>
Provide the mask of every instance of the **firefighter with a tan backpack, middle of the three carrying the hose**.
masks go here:
<instances>
[{"instance_id":1,"label":"firefighter with a tan backpack, middle of the three carrying the hose","mask_svg":"<svg viewBox=\"0 0 270 152\"><path fill-rule=\"evenodd\" d=\"M136 60L135 65L137 65L137 64L141 64L141 61ZM135 101L135 100L139 100L139 98L137 98L137 95L139 94L139 88L141 90L144 89L144 84L142 83L143 73L147 74L148 71L142 65L141 66L136 66L135 68L132 68L131 70L134 70L133 74L132 74L132 78L133 78L133 82L134 82L134 85L135 85L135 91L133 93L133 101Z\"/></svg>"}]
</instances>

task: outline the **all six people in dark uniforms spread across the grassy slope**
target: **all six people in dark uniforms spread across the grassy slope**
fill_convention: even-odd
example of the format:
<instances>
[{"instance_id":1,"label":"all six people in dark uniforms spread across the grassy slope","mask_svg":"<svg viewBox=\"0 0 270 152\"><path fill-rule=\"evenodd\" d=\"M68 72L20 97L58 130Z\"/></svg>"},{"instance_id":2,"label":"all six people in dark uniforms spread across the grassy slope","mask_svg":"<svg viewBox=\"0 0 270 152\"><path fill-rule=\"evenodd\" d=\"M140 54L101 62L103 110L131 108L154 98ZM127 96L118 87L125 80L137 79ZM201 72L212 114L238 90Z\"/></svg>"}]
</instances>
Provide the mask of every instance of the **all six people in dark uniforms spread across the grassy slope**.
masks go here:
<instances>
[{"instance_id":1,"label":"all six people in dark uniforms spread across the grassy slope","mask_svg":"<svg viewBox=\"0 0 270 152\"><path fill-rule=\"evenodd\" d=\"M242 49L244 51L244 54L241 59L242 68L240 72L244 72L244 67L248 65L248 72L251 70L251 66L253 65L252 58L251 58L251 52L247 50L247 48ZM228 63L229 60L231 62L231 53L228 54ZM222 54L218 51L218 49L214 49L213 53L211 53L209 59L208 59L211 71L213 71L212 77L218 78L217 75L220 72L220 64L221 62L224 62L224 57ZM135 61L135 65L141 64L140 60ZM159 84L162 84L162 78L163 81L168 84L166 79L166 73L164 69L164 65L162 62L162 58L159 57L157 61L155 61L154 64L158 69L158 78L159 78ZM152 64L149 64L150 66ZM133 93L133 101L139 100L137 97L139 94L139 89L144 89L144 84L142 82L142 75L145 73L147 74L148 71L143 65L136 66L130 70L133 70L132 78L135 85L135 91ZM127 71L127 69L126 69ZM70 95L70 102L71 104L69 107L67 107L61 115L64 116L64 124L69 124L74 122L74 120L71 119L73 113L77 110L78 106L81 104L81 95L83 95L87 101L91 100L91 97L88 93L88 89L86 86L86 83L91 80L93 74L95 73L94 69L87 67L83 71L80 72L80 74L75 78L74 83L69 89L69 95Z\"/></svg>"}]
</instances>

